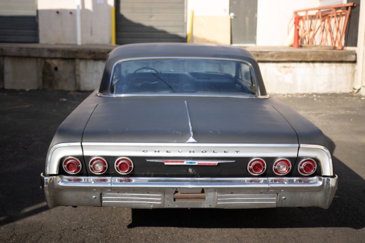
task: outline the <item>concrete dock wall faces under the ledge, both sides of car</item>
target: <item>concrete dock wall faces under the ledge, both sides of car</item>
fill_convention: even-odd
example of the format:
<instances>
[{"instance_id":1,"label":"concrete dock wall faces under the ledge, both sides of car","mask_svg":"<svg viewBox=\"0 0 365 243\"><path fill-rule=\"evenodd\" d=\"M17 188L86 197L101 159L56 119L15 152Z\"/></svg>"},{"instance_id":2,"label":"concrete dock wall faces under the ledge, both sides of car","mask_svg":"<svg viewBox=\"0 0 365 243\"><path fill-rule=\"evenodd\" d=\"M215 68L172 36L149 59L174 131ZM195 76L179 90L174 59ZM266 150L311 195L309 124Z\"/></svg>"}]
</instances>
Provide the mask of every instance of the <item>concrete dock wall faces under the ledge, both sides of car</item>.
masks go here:
<instances>
[{"instance_id":1,"label":"concrete dock wall faces under the ledge, both sides of car","mask_svg":"<svg viewBox=\"0 0 365 243\"><path fill-rule=\"evenodd\" d=\"M94 90L105 61L4 57L4 88ZM269 93L351 92L354 62L259 62ZM19 72L19 70L23 70Z\"/></svg>"}]
</instances>

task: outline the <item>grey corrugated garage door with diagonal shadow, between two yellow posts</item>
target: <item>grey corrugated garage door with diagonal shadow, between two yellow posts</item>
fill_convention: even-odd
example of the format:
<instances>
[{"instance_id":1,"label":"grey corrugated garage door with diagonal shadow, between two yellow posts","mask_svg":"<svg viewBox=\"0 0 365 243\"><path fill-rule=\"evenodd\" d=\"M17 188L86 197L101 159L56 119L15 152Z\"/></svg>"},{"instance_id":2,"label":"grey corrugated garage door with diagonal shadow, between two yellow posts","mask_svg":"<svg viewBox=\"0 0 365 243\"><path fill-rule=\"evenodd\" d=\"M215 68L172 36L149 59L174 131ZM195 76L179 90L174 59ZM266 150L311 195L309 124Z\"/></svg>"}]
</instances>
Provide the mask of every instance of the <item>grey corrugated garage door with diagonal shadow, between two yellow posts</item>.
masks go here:
<instances>
[{"instance_id":1,"label":"grey corrugated garage door with diagonal shadow, between two yellow posts","mask_svg":"<svg viewBox=\"0 0 365 243\"><path fill-rule=\"evenodd\" d=\"M117 0L116 43L185 42L184 0Z\"/></svg>"}]
</instances>

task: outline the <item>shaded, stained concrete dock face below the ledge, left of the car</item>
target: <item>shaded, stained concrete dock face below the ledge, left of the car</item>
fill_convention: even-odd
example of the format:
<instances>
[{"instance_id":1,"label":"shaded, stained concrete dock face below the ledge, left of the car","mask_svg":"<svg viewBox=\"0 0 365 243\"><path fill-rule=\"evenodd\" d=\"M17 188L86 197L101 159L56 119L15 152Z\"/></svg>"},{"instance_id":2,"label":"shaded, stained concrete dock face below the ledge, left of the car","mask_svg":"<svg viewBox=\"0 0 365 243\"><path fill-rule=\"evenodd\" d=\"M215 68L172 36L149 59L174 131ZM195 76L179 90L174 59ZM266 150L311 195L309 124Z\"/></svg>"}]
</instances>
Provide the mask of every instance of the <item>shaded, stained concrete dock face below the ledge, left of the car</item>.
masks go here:
<instances>
[{"instance_id":1,"label":"shaded, stained concrete dock face below the ledge, left of the car","mask_svg":"<svg viewBox=\"0 0 365 243\"><path fill-rule=\"evenodd\" d=\"M1 60L4 80L0 81L5 89L95 90L105 66L105 61L90 59L1 57Z\"/></svg>"}]
</instances>

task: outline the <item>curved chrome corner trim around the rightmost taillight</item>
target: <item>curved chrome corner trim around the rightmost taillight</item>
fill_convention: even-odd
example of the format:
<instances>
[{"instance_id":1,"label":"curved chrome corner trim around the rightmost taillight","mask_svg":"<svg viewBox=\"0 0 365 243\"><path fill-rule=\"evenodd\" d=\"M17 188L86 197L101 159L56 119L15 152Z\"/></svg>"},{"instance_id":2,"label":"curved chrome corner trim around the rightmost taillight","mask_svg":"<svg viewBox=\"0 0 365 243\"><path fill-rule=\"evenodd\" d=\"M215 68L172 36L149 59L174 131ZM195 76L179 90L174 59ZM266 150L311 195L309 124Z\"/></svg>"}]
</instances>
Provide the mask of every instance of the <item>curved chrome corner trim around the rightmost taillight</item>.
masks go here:
<instances>
[{"instance_id":1,"label":"curved chrome corner trim around the rightmost taillight","mask_svg":"<svg viewBox=\"0 0 365 243\"><path fill-rule=\"evenodd\" d=\"M318 159L322 175L333 175L332 157L326 147L315 144L300 144L298 156Z\"/></svg>"}]
</instances>

